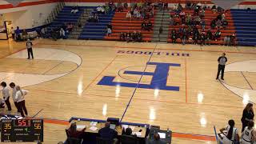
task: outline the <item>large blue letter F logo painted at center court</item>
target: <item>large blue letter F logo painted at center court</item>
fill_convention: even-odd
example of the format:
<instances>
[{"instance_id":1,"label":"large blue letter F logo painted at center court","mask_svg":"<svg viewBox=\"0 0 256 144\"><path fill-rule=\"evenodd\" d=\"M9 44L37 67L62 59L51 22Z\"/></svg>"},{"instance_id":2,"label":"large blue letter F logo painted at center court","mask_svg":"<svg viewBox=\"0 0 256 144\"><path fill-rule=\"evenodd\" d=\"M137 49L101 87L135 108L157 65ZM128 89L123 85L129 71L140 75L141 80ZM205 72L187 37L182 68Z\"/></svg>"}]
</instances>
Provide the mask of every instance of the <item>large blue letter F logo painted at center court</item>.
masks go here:
<instances>
[{"instance_id":1,"label":"large blue letter F logo painted at center court","mask_svg":"<svg viewBox=\"0 0 256 144\"><path fill-rule=\"evenodd\" d=\"M124 74L152 75L150 84L128 83L128 82L113 82L115 77L104 76L98 85L104 86L123 86L123 87L138 87L142 89L158 89L158 90L173 90L179 91L179 86L166 86L168 72L170 66L181 66L178 63L162 63L162 62L147 62L147 65L154 65L154 72L141 71L124 71Z\"/></svg>"}]
</instances>

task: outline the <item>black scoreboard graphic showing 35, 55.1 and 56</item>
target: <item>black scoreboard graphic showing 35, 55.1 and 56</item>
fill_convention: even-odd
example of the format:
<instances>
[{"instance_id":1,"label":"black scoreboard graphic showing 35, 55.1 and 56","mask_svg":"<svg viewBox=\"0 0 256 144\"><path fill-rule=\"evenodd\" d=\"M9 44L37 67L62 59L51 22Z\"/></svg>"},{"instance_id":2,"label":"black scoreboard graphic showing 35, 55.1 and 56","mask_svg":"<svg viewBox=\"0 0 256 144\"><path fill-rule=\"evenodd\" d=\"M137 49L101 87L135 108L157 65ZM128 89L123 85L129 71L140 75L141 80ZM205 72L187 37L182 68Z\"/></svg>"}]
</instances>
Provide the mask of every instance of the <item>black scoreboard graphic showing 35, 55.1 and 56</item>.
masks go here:
<instances>
[{"instance_id":1,"label":"black scoreboard graphic showing 35, 55.1 and 56","mask_svg":"<svg viewBox=\"0 0 256 144\"><path fill-rule=\"evenodd\" d=\"M2 119L1 142L43 142L42 119Z\"/></svg>"}]
</instances>

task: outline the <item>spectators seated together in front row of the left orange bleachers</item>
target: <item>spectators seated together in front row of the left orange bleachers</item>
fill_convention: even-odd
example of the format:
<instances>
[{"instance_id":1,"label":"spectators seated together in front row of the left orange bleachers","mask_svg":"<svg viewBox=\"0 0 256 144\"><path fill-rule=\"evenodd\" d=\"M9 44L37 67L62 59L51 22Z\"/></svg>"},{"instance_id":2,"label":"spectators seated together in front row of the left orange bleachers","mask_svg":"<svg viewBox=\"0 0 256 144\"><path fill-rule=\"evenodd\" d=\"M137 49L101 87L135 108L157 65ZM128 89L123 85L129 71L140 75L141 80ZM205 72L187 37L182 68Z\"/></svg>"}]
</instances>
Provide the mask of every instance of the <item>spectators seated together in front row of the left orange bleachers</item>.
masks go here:
<instances>
[{"instance_id":1,"label":"spectators seated together in front row of the left orange bleachers","mask_svg":"<svg viewBox=\"0 0 256 144\"><path fill-rule=\"evenodd\" d=\"M142 33L138 31L121 33L119 39L126 42L142 42Z\"/></svg>"}]
</instances>

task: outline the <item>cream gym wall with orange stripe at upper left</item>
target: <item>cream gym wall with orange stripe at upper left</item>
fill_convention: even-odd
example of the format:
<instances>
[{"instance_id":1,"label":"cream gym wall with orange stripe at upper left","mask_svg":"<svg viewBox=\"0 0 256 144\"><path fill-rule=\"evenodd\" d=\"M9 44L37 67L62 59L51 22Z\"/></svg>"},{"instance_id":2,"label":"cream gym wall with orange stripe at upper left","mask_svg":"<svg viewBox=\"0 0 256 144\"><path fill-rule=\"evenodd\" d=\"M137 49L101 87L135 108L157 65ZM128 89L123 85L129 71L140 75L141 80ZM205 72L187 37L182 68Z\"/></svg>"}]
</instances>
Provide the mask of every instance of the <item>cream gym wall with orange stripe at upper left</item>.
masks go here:
<instances>
[{"instance_id":1,"label":"cream gym wall with orange stripe at upper left","mask_svg":"<svg viewBox=\"0 0 256 144\"><path fill-rule=\"evenodd\" d=\"M11 21L14 27L31 29L44 25L47 16L57 4L55 0L26 0L18 6L12 6L8 2L0 1L0 14L5 21Z\"/></svg>"}]
</instances>

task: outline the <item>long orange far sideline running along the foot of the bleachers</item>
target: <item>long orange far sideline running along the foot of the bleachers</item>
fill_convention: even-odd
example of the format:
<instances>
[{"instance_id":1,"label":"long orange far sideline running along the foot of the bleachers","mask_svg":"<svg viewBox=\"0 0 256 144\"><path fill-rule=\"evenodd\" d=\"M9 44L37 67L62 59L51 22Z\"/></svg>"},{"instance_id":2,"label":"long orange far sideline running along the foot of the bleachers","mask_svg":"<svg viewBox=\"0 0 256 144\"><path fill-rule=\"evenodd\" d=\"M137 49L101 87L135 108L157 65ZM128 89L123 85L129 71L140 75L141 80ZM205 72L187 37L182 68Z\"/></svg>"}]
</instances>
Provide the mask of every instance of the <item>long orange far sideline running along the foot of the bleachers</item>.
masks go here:
<instances>
[{"instance_id":1,"label":"long orange far sideline running along the foot of the bleachers","mask_svg":"<svg viewBox=\"0 0 256 144\"><path fill-rule=\"evenodd\" d=\"M47 43L38 43L41 45L59 45L59 46L90 46L90 47L108 47L108 48L117 48L117 49L145 49L145 50L154 50L153 47L138 47L138 46L97 46L97 45L78 45L78 44L47 44ZM186 50L186 49L162 49L158 48L158 50L177 50L177 51L196 51L196 52L213 52L213 53L222 53L223 50ZM224 49L225 50L225 49ZM253 52L239 52L239 51L225 51L225 53L234 53L234 54L256 54Z\"/></svg>"}]
</instances>

